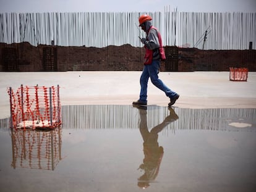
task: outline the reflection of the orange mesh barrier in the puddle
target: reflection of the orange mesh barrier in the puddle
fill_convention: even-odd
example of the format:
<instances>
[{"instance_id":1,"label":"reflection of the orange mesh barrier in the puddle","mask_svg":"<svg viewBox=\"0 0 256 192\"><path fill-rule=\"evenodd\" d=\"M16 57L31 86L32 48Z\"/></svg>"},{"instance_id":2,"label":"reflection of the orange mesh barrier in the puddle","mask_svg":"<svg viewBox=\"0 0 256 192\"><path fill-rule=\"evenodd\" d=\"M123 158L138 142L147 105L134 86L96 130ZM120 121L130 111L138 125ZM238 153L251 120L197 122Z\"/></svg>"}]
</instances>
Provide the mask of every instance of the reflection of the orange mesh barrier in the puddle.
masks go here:
<instances>
[{"instance_id":1,"label":"reflection of the orange mesh barrier in the puddle","mask_svg":"<svg viewBox=\"0 0 256 192\"><path fill-rule=\"evenodd\" d=\"M12 164L30 169L54 170L61 161L61 128L49 131L12 130Z\"/></svg>"}]
</instances>

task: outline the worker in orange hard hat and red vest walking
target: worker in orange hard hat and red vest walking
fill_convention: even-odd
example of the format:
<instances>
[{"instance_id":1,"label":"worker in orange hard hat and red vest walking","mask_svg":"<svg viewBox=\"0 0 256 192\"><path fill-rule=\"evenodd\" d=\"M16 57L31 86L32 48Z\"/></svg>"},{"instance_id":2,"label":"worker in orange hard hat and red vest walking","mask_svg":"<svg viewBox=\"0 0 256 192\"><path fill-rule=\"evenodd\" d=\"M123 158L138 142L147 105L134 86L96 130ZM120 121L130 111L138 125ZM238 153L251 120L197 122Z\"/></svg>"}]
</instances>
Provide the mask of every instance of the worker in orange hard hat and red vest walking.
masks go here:
<instances>
[{"instance_id":1,"label":"worker in orange hard hat and red vest walking","mask_svg":"<svg viewBox=\"0 0 256 192\"><path fill-rule=\"evenodd\" d=\"M141 15L139 17L139 26L145 31L147 37L140 38L145 48L144 67L142 75L140 76L140 98L138 101L132 102L132 104L147 105L148 78L150 78L153 85L164 91L166 96L170 98L168 107L171 107L179 98L179 94L170 90L164 85L163 81L158 78L160 61L165 59L165 55L160 32L153 27L151 20L150 15Z\"/></svg>"}]
</instances>

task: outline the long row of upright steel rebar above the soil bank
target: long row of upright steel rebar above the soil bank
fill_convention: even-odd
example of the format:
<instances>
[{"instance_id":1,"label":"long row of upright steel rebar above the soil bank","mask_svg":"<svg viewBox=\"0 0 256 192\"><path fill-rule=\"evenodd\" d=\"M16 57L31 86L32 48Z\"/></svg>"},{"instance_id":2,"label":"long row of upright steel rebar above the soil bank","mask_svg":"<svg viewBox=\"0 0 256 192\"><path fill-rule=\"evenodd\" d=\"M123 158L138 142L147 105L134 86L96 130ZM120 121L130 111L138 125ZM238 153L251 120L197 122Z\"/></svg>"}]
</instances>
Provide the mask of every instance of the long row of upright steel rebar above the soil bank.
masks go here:
<instances>
[{"instance_id":1,"label":"long row of upright steel rebar above the soil bank","mask_svg":"<svg viewBox=\"0 0 256 192\"><path fill-rule=\"evenodd\" d=\"M170 7L164 9L164 22L161 12L0 14L0 25L3 26L0 42L28 41L37 46L51 44L54 39L58 46L103 48L131 44L140 47L142 44L133 26L140 14L150 14L160 31L164 27L161 33L167 46L192 46L210 25L212 31L205 49L248 49L249 41L255 49L256 13L178 12L177 8L171 11ZM202 43L198 48L202 48Z\"/></svg>"}]
</instances>

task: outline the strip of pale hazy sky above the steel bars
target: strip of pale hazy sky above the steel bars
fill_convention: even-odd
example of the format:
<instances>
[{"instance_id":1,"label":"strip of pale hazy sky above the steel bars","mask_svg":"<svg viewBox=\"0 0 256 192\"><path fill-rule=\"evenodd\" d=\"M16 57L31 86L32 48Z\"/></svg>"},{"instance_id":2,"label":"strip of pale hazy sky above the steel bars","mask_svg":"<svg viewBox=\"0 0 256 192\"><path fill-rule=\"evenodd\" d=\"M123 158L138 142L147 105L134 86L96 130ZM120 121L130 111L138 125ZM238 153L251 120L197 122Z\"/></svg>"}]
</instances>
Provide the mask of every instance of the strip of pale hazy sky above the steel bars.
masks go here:
<instances>
[{"instance_id":1,"label":"strip of pale hazy sky above the steel bars","mask_svg":"<svg viewBox=\"0 0 256 192\"><path fill-rule=\"evenodd\" d=\"M256 12L256 0L0 0L0 12Z\"/></svg>"}]
</instances>

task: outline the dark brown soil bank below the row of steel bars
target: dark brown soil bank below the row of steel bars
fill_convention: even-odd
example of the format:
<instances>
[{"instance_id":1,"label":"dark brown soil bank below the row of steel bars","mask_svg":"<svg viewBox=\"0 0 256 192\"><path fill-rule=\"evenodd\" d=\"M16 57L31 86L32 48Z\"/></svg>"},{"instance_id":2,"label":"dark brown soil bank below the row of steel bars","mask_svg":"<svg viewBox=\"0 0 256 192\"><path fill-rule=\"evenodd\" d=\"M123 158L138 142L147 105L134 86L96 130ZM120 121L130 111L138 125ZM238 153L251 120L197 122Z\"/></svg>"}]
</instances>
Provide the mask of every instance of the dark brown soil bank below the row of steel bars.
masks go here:
<instances>
[{"instance_id":1,"label":"dark brown soil bank below the row of steel bars","mask_svg":"<svg viewBox=\"0 0 256 192\"><path fill-rule=\"evenodd\" d=\"M200 50L166 46L162 71L256 71L256 50ZM143 48L129 44L106 48L32 46L0 43L0 71L142 70Z\"/></svg>"}]
</instances>

